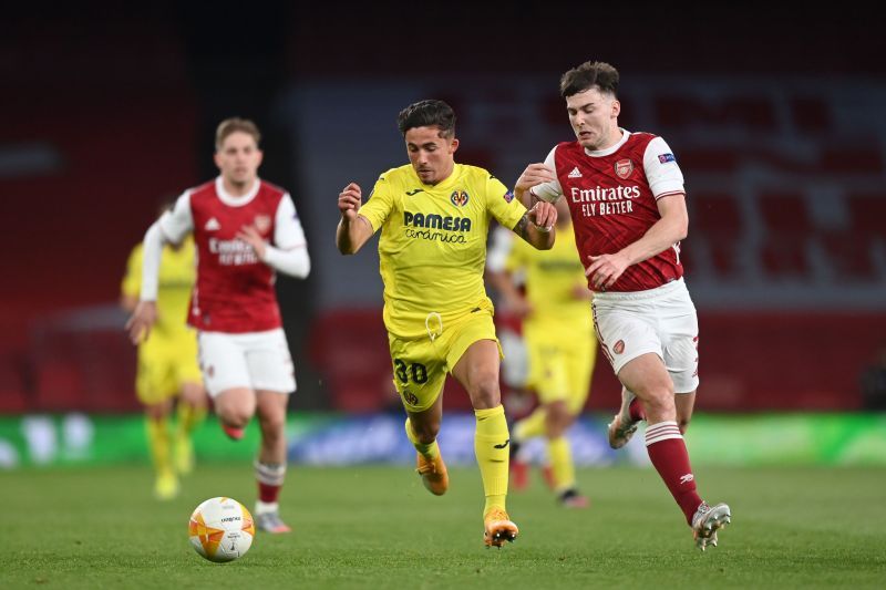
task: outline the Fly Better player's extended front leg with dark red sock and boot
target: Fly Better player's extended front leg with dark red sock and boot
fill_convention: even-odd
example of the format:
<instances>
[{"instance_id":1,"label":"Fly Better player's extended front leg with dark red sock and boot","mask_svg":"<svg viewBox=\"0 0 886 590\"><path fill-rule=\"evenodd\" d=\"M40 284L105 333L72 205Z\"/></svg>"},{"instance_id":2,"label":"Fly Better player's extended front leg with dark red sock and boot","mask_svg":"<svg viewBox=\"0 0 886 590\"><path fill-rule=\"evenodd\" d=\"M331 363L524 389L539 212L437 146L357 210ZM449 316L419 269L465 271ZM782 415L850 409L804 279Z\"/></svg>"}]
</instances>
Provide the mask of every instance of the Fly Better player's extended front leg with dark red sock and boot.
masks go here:
<instances>
[{"instance_id":1,"label":"Fly Better player's extended front leg with dark red sock and boot","mask_svg":"<svg viewBox=\"0 0 886 590\"><path fill-rule=\"evenodd\" d=\"M699 527L702 527L702 535L710 537L729 521L731 514L729 514L729 507L722 505L722 508L717 510L713 517L701 518L698 516L699 511L707 514L703 510L707 505L696 491L696 476L689 463L683 436L677 424L673 383L664 363L657 354L647 353L621 368L618 379L640 398L646 408L649 423L649 427L646 429L646 448L649 458L683 511L687 524L693 530L693 536L698 541ZM710 530L704 528L709 524L711 525Z\"/></svg>"}]
</instances>

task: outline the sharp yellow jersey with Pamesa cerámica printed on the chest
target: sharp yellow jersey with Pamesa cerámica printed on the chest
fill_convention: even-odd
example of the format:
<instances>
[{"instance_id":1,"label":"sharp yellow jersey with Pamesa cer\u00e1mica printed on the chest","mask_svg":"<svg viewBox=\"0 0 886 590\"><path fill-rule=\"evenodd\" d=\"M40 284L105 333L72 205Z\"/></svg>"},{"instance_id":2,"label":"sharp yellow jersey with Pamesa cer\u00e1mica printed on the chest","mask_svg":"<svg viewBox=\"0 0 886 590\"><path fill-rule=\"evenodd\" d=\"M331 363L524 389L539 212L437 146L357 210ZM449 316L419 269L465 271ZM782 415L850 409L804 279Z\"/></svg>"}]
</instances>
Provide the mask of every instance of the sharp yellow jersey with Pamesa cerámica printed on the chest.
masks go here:
<instances>
[{"instance_id":1,"label":"sharp yellow jersey with Pamesa cer\u00e1mica printed on the chest","mask_svg":"<svg viewBox=\"0 0 886 590\"><path fill-rule=\"evenodd\" d=\"M410 339L437 320L445 327L492 309L483 283L490 221L513 228L526 207L483 168L455 164L445 180L425 185L408 164L382 174L359 213L381 229L384 324Z\"/></svg>"}]
</instances>

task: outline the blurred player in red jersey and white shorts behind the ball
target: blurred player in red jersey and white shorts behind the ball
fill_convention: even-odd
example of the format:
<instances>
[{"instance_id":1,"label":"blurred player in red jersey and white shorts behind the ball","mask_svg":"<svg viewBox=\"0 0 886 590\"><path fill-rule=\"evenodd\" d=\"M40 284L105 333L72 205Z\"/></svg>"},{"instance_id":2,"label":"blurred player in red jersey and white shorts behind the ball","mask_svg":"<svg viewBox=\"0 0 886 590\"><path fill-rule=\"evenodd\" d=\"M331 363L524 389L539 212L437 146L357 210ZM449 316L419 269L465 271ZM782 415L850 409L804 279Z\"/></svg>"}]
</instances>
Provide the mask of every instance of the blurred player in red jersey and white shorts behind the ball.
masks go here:
<instances>
[{"instance_id":1,"label":"blurred player in red jersey and white shorts behind the ball","mask_svg":"<svg viewBox=\"0 0 886 590\"><path fill-rule=\"evenodd\" d=\"M241 438L258 414L256 526L288 532L277 499L286 475L286 405L296 380L274 281L276 271L307 277L310 259L289 194L258 177L260 137L248 120L218 125L215 163L220 174L185 190L145 234L141 301L126 328L133 343L148 338L157 317L163 245L193 234L197 282L188 323L198 331L204 383L231 438Z\"/></svg>"}]
</instances>

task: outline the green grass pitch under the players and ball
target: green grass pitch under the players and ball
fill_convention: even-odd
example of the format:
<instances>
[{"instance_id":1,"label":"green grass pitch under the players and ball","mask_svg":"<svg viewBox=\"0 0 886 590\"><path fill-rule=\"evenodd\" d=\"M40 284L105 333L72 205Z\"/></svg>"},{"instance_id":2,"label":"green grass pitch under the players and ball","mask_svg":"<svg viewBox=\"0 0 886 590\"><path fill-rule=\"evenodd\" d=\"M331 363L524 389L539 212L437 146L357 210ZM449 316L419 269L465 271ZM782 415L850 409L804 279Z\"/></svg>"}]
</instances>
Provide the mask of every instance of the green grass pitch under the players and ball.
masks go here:
<instances>
[{"instance_id":1,"label":"green grass pitch under the players and ball","mask_svg":"<svg viewBox=\"0 0 886 590\"><path fill-rule=\"evenodd\" d=\"M179 498L151 496L147 467L0 473L0 588L879 588L886 580L883 469L699 469L733 524L697 550L651 469L585 469L587 510L555 505L540 478L509 496L521 527L482 542L476 469L431 496L408 467L292 466L281 498L295 531L259 534L228 565L187 539L202 500L251 509L249 465L199 465Z\"/></svg>"}]
</instances>

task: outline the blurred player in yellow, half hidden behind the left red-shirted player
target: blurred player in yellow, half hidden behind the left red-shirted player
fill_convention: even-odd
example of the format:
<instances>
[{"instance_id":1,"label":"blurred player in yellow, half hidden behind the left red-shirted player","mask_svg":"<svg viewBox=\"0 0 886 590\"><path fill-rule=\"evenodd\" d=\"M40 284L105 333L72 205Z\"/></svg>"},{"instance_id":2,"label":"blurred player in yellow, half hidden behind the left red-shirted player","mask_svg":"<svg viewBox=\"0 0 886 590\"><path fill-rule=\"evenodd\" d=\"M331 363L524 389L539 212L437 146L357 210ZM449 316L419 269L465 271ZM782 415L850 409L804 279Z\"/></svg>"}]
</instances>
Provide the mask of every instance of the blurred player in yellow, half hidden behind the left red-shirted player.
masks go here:
<instances>
[{"instance_id":1,"label":"blurred player in yellow, half hidden behind the left red-shirted player","mask_svg":"<svg viewBox=\"0 0 886 590\"><path fill-rule=\"evenodd\" d=\"M165 204L165 210L172 203ZM143 247L130 253L121 286L121 306L132 313L142 292ZM206 393L197 365L197 333L187 325L190 289L196 278L194 240L163 248L157 281L157 323L153 338L138 344L135 391L145 406L147 441L156 472L154 495L169 499L178 493L178 475L194 468L190 434L206 416ZM169 416L176 403L176 426Z\"/></svg>"}]
</instances>

